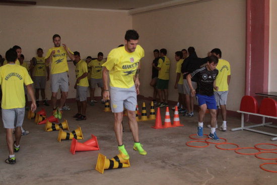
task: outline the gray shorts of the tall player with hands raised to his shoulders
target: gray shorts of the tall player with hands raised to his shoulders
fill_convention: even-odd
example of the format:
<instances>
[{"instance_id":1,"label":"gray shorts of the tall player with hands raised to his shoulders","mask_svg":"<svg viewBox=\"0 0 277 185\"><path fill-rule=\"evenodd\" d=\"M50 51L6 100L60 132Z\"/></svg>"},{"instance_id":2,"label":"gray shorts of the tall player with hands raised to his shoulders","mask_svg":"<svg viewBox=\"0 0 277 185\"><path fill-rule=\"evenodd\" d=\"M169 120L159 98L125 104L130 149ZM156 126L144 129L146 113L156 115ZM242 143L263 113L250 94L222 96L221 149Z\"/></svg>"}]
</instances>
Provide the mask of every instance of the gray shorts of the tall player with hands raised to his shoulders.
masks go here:
<instances>
[{"instance_id":1,"label":"gray shorts of the tall player with hands raised to his shoulders","mask_svg":"<svg viewBox=\"0 0 277 185\"><path fill-rule=\"evenodd\" d=\"M51 90L52 90L52 92L58 92L59 87L62 92L68 92L67 72L51 75Z\"/></svg>"}]
</instances>

